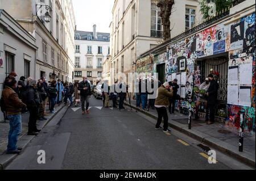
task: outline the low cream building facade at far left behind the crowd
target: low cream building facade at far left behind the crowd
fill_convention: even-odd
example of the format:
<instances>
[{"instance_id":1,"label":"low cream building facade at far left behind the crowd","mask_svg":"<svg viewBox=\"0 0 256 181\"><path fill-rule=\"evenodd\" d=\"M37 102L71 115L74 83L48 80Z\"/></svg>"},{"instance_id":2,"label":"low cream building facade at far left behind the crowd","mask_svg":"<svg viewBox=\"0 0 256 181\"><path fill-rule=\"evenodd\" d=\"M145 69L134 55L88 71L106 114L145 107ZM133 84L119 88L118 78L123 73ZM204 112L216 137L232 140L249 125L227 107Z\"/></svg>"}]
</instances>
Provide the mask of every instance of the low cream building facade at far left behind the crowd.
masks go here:
<instances>
[{"instance_id":1,"label":"low cream building facade at far left behind the crowd","mask_svg":"<svg viewBox=\"0 0 256 181\"><path fill-rule=\"evenodd\" d=\"M17 80L22 76L35 76L37 49L35 38L5 10L0 9L0 96L3 82L11 71L18 74Z\"/></svg>"}]
</instances>

